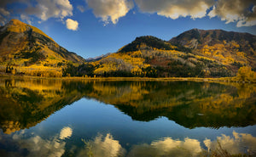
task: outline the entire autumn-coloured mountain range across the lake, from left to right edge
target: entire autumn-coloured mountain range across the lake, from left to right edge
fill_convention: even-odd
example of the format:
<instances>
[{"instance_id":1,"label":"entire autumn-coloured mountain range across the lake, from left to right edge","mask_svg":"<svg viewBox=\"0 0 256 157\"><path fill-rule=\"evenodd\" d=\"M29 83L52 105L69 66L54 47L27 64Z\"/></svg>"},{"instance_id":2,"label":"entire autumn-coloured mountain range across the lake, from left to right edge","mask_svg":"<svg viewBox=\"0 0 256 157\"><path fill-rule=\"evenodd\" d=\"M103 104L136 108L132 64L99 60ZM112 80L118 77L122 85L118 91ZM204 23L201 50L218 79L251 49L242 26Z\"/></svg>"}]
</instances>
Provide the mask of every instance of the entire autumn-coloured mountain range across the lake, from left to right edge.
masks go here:
<instances>
[{"instance_id":1,"label":"entire autumn-coloured mountain range across the lake, from left to right edge","mask_svg":"<svg viewBox=\"0 0 256 157\"><path fill-rule=\"evenodd\" d=\"M193 29L170 41L140 36L116 53L85 60L38 28L11 20L0 27L0 46L0 70L16 75L224 77L245 66L244 80L256 77L256 36L233 31Z\"/></svg>"}]
</instances>

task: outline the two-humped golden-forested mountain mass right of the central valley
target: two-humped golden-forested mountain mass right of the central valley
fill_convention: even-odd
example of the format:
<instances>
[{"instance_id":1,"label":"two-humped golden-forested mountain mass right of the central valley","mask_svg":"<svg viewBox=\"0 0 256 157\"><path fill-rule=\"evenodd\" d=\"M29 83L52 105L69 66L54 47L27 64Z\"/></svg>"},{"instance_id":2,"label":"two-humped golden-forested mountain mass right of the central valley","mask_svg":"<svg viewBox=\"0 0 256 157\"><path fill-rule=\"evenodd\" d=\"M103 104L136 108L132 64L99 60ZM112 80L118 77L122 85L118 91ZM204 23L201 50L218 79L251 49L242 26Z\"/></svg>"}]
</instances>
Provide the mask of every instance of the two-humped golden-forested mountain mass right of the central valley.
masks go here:
<instances>
[{"instance_id":1,"label":"two-humped golden-forested mountain mass right of the central valley","mask_svg":"<svg viewBox=\"0 0 256 157\"><path fill-rule=\"evenodd\" d=\"M256 70L255 50L251 34L193 29L170 41L137 37L93 64L98 76L236 76L241 66Z\"/></svg>"}]
</instances>

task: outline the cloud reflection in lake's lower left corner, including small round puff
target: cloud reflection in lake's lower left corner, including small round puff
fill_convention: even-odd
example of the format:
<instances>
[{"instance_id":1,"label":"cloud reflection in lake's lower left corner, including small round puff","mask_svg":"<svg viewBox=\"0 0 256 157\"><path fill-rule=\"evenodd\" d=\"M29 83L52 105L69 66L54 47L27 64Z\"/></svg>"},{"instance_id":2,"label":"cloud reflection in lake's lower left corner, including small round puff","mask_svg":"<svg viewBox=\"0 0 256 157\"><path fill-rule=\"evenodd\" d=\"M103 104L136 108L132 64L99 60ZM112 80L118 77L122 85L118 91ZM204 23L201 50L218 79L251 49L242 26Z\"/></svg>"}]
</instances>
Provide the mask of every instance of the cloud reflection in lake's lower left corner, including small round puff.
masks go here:
<instances>
[{"instance_id":1,"label":"cloud reflection in lake's lower left corner, including small round puff","mask_svg":"<svg viewBox=\"0 0 256 157\"><path fill-rule=\"evenodd\" d=\"M27 157L61 157L65 153L66 141L72 136L72 129L64 127L60 134L44 139L38 135L28 135L26 131L17 132L12 135L1 136L2 156L27 156ZM10 147L11 146L11 147Z\"/></svg>"}]
</instances>

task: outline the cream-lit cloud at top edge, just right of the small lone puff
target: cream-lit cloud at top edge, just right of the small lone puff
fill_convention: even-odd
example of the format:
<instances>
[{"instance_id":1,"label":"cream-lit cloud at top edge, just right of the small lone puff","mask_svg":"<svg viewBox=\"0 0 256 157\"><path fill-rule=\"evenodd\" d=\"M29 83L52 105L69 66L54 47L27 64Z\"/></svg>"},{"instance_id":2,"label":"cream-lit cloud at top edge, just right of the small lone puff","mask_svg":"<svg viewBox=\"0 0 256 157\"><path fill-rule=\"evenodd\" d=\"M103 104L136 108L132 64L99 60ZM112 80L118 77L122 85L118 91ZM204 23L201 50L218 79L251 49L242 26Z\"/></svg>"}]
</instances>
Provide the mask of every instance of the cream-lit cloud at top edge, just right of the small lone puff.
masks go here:
<instances>
[{"instance_id":1,"label":"cream-lit cloud at top edge, just right of the small lone puff","mask_svg":"<svg viewBox=\"0 0 256 157\"><path fill-rule=\"evenodd\" d=\"M93 9L96 17L102 18L106 24L109 21L116 24L120 17L125 16L133 8L130 0L86 0L86 2Z\"/></svg>"}]
</instances>

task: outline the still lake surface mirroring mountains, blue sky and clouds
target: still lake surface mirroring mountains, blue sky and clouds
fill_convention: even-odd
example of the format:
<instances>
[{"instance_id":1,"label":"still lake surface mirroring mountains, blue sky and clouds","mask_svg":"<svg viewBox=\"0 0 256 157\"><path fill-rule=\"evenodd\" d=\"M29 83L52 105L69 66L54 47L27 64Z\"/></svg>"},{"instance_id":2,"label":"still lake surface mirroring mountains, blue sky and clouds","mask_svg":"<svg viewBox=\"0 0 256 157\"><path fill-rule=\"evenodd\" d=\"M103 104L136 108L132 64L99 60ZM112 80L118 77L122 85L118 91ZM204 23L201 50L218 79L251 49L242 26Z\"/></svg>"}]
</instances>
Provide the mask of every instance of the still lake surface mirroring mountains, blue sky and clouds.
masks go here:
<instances>
[{"instance_id":1,"label":"still lake surface mirroring mountains, blue sky and clouds","mask_svg":"<svg viewBox=\"0 0 256 157\"><path fill-rule=\"evenodd\" d=\"M0 156L255 156L255 124L252 84L0 79Z\"/></svg>"}]
</instances>

